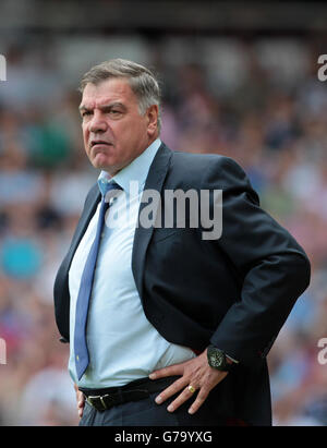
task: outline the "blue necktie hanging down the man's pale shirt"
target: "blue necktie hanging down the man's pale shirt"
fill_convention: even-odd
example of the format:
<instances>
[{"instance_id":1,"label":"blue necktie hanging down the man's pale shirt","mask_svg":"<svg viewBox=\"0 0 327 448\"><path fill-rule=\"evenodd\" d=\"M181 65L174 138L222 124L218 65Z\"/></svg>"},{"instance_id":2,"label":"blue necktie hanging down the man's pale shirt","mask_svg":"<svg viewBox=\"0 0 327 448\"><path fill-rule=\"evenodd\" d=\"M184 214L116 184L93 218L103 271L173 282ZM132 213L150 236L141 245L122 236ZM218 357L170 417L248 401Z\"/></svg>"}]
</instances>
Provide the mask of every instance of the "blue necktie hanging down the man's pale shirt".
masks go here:
<instances>
[{"instance_id":1,"label":"blue necktie hanging down the man's pale shirt","mask_svg":"<svg viewBox=\"0 0 327 448\"><path fill-rule=\"evenodd\" d=\"M116 182L109 182L106 185L106 194L111 190L122 190ZM74 353L75 353L75 365L78 379L86 371L89 363L87 343L86 343L86 324L87 324L87 313L88 304L90 299L90 292L94 280L94 273L97 263L97 256L100 246L101 232L105 223L106 211L109 207L109 202L106 202L106 194L102 195L102 201L100 205L100 213L97 225L97 232L95 240L89 250L85 267L83 270L80 291L76 302L76 315L75 315L75 330L74 330Z\"/></svg>"}]
</instances>

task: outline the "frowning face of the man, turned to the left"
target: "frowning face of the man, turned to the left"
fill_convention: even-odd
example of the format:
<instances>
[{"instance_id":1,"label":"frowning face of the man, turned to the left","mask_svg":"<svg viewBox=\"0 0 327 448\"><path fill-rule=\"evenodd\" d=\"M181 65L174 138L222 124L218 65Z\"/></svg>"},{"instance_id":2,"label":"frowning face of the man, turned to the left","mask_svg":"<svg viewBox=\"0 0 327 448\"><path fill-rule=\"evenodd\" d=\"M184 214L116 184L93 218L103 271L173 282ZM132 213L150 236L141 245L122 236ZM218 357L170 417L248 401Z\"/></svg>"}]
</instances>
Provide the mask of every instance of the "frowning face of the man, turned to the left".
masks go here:
<instances>
[{"instance_id":1,"label":"frowning face of the man, turned to the left","mask_svg":"<svg viewBox=\"0 0 327 448\"><path fill-rule=\"evenodd\" d=\"M80 106L86 154L95 168L114 175L157 136L157 106L141 116L128 80L88 83Z\"/></svg>"}]
</instances>

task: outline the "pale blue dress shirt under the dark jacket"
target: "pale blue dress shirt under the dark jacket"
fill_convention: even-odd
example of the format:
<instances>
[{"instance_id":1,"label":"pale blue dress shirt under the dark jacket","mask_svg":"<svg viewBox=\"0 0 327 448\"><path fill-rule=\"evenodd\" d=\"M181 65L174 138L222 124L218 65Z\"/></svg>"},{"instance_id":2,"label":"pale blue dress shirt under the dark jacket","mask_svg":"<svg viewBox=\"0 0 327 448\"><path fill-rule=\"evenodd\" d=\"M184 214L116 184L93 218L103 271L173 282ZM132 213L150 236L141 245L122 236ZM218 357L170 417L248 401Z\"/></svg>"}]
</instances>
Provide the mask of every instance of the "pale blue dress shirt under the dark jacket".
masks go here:
<instances>
[{"instance_id":1,"label":"pale blue dress shirt under the dark jacket","mask_svg":"<svg viewBox=\"0 0 327 448\"><path fill-rule=\"evenodd\" d=\"M194 358L185 347L168 342L147 320L132 273L132 250L141 196L152 161L160 146L156 140L112 180L119 192L106 216L87 320L89 365L77 380L74 344L70 344L69 372L81 387L104 388L146 377L153 371ZM110 182L106 172L98 179ZM130 189L130 182L134 187ZM138 189L135 189L138 182ZM75 252L69 271L70 340L74 340L75 306L83 268L95 239L99 207Z\"/></svg>"}]
</instances>

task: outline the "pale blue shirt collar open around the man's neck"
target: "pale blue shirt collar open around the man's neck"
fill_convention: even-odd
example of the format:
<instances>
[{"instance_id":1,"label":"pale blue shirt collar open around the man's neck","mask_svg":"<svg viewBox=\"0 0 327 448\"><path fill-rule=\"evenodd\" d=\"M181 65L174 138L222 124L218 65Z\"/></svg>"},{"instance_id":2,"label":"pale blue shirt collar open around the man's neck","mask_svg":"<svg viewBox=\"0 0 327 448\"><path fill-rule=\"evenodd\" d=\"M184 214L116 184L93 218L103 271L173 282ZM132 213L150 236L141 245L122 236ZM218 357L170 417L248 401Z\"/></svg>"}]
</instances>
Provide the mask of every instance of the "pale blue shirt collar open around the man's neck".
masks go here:
<instances>
[{"instance_id":1,"label":"pale blue shirt collar open around the man's neck","mask_svg":"<svg viewBox=\"0 0 327 448\"><path fill-rule=\"evenodd\" d=\"M143 189L149 167L161 145L160 138L155 140L136 159L131 161L130 165L120 170L117 174L110 178L107 171L101 171L98 177L98 186L104 195L106 192L106 183L117 182L124 192L130 192L130 182L138 182L138 193ZM134 184L135 185L135 184Z\"/></svg>"}]
</instances>

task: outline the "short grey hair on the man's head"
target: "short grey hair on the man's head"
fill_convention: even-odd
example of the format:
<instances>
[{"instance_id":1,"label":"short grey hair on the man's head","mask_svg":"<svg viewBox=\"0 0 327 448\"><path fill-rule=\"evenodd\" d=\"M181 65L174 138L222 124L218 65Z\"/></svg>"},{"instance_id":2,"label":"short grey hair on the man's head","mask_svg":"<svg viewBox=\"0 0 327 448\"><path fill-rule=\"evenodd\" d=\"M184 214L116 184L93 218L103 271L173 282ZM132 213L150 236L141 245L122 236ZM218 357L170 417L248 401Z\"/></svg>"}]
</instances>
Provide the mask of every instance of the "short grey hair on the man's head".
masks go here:
<instances>
[{"instance_id":1,"label":"short grey hair on the man's head","mask_svg":"<svg viewBox=\"0 0 327 448\"><path fill-rule=\"evenodd\" d=\"M83 94L86 84L97 85L111 77L125 77L129 81L131 89L138 100L141 114L144 114L150 106L158 106L157 126L160 132L160 87L154 73L145 66L125 59L110 59L93 66L86 72L81 80L78 90Z\"/></svg>"}]
</instances>

